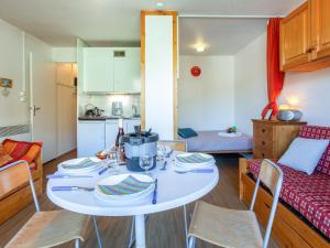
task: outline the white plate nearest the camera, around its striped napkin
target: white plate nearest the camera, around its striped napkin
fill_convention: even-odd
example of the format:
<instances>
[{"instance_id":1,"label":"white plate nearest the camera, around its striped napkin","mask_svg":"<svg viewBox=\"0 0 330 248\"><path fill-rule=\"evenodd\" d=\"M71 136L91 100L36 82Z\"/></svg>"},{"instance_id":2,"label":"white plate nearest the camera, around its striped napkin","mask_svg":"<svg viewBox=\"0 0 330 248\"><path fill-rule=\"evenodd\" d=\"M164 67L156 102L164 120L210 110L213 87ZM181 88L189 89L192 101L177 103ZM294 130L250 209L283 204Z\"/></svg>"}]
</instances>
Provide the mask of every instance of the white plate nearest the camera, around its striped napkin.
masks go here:
<instances>
[{"instance_id":1,"label":"white plate nearest the camera, around its striped napkin","mask_svg":"<svg viewBox=\"0 0 330 248\"><path fill-rule=\"evenodd\" d=\"M122 182L128 176L133 176L136 180L141 182L153 182L154 180L145 174L133 174L133 173L125 173L125 174L119 174L119 175L110 175L106 179L102 179L96 183L96 190L95 195L102 201L107 202L123 202L123 201L136 201L136 198L145 197L150 195L154 190L154 184L151 184L146 190L134 193L134 194L128 194L128 195L107 195L101 192L101 190L98 187L98 185L116 185Z\"/></svg>"}]
</instances>

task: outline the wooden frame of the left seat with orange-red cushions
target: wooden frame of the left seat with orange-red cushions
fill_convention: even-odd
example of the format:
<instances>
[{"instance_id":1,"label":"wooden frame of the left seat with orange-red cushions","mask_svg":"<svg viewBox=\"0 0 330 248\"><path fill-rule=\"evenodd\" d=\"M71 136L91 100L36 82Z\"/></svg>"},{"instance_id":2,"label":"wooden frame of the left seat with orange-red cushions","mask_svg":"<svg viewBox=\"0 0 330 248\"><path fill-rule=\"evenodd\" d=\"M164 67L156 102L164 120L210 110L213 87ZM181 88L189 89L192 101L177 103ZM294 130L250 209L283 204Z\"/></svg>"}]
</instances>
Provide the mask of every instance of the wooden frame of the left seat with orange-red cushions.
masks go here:
<instances>
[{"instance_id":1,"label":"wooden frame of the left seat with orange-red cushions","mask_svg":"<svg viewBox=\"0 0 330 248\"><path fill-rule=\"evenodd\" d=\"M42 194L43 186L43 164L41 155L38 155L34 161L36 170L32 171L32 177L34 181L35 192L37 195ZM4 176L2 176L4 177ZM6 180L1 177L0 180ZM25 206L32 203L32 192L29 182L22 184L15 191L0 197L0 225L7 219L11 218L13 215L22 211Z\"/></svg>"}]
</instances>

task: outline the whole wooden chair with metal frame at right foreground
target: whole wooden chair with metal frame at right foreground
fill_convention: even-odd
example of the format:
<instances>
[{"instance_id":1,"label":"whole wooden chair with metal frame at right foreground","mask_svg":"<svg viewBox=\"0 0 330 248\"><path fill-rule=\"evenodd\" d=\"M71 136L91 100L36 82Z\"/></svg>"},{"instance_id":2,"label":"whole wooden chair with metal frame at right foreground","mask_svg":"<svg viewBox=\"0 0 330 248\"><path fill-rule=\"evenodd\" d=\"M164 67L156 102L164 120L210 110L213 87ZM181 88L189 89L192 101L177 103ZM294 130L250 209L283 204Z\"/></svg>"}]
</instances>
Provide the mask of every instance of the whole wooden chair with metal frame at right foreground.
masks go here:
<instances>
[{"instance_id":1,"label":"whole wooden chair with metal frame at right foreground","mask_svg":"<svg viewBox=\"0 0 330 248\"><path fill-rule=\"evenodd\" d=\"M273 204L262 238L256 215L253 212L260 182L273 194ZM266 248L283 182L283 172L275 163L264 160L255 184L250 211L229 209L197 202L188 231L189 248L195 247L196 238L224 248Z\"/></svg>"}]
</instances>

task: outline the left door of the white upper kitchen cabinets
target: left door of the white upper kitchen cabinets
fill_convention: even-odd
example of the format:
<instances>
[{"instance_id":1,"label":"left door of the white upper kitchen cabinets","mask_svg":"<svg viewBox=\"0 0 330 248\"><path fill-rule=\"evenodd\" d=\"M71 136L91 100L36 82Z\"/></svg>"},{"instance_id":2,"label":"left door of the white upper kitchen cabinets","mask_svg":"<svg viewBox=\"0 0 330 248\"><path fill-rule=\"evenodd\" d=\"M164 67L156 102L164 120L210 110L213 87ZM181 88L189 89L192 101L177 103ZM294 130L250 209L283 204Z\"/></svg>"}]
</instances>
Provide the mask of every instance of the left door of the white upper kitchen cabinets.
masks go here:
<instances>
[{"instance_id":1,"label":"left door of the white upper kitchen cabinets","mask_svg":"<svg viewBox=\"0 0 330 248\"><path fill-rule=\"evenodd\" d=\"M113 91L113 50L109 47L84 48L84 91Z\"/></svg>"}]
</instances>

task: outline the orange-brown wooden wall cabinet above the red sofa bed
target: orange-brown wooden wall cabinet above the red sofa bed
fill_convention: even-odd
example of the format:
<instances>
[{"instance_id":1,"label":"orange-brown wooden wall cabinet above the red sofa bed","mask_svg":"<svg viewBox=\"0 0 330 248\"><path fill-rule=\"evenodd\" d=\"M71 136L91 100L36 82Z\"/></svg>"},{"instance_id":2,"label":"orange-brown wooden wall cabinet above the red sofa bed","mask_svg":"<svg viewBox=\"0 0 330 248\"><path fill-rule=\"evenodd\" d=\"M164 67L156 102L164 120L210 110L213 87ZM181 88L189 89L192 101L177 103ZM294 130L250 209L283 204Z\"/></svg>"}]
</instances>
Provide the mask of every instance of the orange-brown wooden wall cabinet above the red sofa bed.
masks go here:
<instances>
[{"instance_id":1,"label":"orange-brown wooden wall cabinet above the red sofa bed","mask_svg":"<svg viewBox=\"0 0 330 248\"><path fill-rule=\"evenodd\" d=\"M280 21L280 68L330 66L330 1L309 0Z\"/></svg>"}]
</instances>

